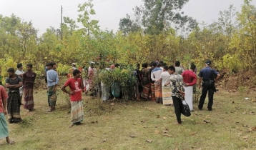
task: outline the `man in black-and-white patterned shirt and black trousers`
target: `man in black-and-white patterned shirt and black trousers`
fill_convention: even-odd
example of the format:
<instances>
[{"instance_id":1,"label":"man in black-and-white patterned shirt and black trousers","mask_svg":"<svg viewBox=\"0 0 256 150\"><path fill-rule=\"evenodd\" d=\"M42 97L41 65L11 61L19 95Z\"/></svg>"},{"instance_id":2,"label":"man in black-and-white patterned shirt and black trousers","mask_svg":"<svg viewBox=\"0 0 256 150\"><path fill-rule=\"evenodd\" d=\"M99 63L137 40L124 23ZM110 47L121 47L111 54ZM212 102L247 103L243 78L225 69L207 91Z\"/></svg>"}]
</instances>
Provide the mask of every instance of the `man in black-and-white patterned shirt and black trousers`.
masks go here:
<instances>
[{"instance_id":1,"label":"man in black-and-white patterned shirt and black trousers","mask_svg":"<svg viewBox=\"0 0 256 150\"><path fill-rule=\"evenodd\" d=\"M174 111L177 118L177 124L182 124L181 110L182 110L182 98L184 97L184 87L183 87L183 79L182 75L175 73L175 67L169 66L168 68L169 74L171 77L169 78L171 89L172 89L172 101L174 105ZM165 84L164 86L167 86Z\"/></svg>"}]
</instances>

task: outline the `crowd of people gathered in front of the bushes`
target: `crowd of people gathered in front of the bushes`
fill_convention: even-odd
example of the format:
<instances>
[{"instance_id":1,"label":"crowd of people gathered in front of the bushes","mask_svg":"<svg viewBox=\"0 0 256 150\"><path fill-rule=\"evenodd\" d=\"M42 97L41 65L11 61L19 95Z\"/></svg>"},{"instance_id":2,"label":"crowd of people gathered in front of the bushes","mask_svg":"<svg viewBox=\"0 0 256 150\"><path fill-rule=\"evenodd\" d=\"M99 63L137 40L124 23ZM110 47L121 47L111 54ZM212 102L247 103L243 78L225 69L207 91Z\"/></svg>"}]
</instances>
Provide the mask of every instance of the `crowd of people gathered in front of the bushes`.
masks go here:
<instances>
[{"instance_id":1,"label":"crowd of people gathered in front of the bushes","mask_svg":"<svg viewBox=\"0 0 256 150\"><path fill-rule=\"evenodd\" d=\"M94 88L97 83L94 83L94 62L90 62L88 69L79 70L76 64L72 64L72 77L61 87L61 90L69 94L71 101L71 118L72 124L70 127L81 124L84 119L84 106L82 101L82 92L86 91L90 96L94 97ZM205 97L208 93L208 111L212 111L213 94L215 92L215 81L220 78L220 74L211 68L211 61L205 61L206 67L198 74L195 64L191 64L189 70L184 70L180 66L180 62L176 61L174 66L167 66L162 61L152 61L150 64L142 64L142 69L139 69L139 64L134 69L134 77L136 81L132 84L129 96L137 101L155 101L157 104L174 106L174 112L177 118L177 124L182 124L182 99L187 101L190 111L193 111L193 86L198 84L202 88L202 95L198 104L198 109L203 109ZM59 85L59 76L56 72L56 63L51 62L46 64L46 84L48 97L48 112L56 109L56 89ZM112 64L104 69L104 71L113 71L117 69L119 64ZM22 121L20 115L20 106L23 105L26 111L34 111L34 81L36 73L32 70L32 64L26 65L26 72L23 71L22 64L17 64L17 70L13 68L7 70L8 77L5 80L5 87L8 90L6 93L4 86L0 85L0 139L6 138L7 143L13 144L14 141L9 139L8 127L4 115L7 114L10 124ZM82 72L87 72L87 78L83 79ZM217 78L215 78L217 76ZM122 97L122 86L118 82L112 83L112 86L106 86L104 82L100 84L101 89L98 92L101 94L102 101L118 99ZM69 90L67 90L69 86ZM21 101L22 97L24 98Z\"/></svg>"}]
</instances>

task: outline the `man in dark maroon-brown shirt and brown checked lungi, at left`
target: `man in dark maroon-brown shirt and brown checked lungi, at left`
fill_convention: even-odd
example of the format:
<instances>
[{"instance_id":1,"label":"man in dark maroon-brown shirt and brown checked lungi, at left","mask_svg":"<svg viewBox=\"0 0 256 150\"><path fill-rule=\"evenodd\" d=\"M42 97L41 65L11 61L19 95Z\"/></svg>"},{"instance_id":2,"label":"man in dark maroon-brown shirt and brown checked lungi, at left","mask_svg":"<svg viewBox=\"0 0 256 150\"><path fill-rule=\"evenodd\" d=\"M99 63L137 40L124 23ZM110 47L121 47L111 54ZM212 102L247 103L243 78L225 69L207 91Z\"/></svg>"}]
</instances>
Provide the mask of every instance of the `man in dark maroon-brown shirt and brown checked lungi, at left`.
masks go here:
<instances>
[{"instance_id":1,"label":"man in dark maroon-brown shirt and brown checked lungi, at left","mask_svg":"<svg viewBox=\"0 0 256 150\"><path fill-rule=\"evenodd\" d=\"M36 80L36 73L32 71L32 64L26 65L26 72L23 74L23 88L24 88L24 109L31 111L34 109L33 88Z\"/></svg>"}]
</instances>

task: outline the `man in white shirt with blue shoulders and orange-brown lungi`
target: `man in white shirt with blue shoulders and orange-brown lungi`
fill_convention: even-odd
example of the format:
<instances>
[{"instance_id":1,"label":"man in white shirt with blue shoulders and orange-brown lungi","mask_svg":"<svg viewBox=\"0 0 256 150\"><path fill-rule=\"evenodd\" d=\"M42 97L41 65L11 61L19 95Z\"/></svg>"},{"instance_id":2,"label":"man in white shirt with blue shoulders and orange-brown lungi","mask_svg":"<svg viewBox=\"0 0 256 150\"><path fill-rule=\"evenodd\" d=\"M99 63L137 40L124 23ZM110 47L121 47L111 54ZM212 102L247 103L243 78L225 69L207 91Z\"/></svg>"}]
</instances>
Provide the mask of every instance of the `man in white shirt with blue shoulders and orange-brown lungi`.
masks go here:
<instances>
[{"instance_id":1,"label":"man in white shirt with blue shoulders and orange-brown lungi","mask_svg":"<svg viewBox=\"0 0 256 150\"><path fill-rule=\"evenodd\" d=\"M154 95L156 96L157 103L162 103L162 86L159 79L161 78L162 69L157 67L157 63L153 62L152 66L154 69L151 72L151 79L154 81Z\"/></svg>"}]
</instances>

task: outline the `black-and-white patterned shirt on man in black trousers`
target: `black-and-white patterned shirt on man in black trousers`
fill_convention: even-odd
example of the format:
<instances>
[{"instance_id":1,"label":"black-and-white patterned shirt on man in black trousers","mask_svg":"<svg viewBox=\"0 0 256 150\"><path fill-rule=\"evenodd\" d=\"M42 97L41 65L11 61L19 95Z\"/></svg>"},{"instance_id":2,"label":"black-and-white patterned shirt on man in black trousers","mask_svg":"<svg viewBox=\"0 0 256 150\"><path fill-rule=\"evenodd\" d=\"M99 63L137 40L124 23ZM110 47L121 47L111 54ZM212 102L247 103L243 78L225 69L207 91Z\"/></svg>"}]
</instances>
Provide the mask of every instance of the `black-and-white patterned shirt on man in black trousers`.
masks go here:
<instances>
[{"instance_id":1,"label":"black-and-white patterned shirt on man in black trousers","mask_svg":"<svg viewBox=\"0 0 256 150\"><path fill-rule=\"evenodd\" d=\"M182 99L182 94L178 91L184 91L184 83L182 75L174 73L169 77L169 81L172 89L172 96L176 96L179 99Z\"/></svg>"}]
</instances>

